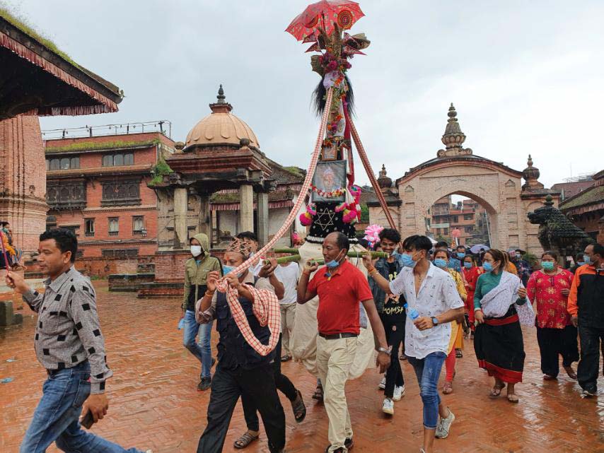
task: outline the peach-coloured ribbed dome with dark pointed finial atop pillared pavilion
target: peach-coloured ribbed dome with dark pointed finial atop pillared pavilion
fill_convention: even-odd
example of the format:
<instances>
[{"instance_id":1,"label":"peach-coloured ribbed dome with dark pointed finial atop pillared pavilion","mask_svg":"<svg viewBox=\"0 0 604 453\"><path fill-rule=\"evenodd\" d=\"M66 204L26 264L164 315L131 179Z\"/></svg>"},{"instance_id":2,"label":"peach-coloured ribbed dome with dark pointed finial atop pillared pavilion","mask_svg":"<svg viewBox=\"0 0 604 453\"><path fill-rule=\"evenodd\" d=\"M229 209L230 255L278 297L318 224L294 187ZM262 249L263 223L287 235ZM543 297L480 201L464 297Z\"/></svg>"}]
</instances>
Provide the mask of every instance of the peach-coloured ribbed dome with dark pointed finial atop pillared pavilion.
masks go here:
<instances>
[{"instance_id":1,"label":"peach-coloured ribbed dome with dark pointed finial atop pillared pavilion","mask_svg":"<svg viewBox=\"0 0 604 453\"><path fill-rule=\"evenodd\" d=\"M249 146L260 148L254 131L245 122L231 113L233 106L225 102L222 86L218 91L218 102L210 104L211 114L195 124L187 134L185 146L235 145L248 139ZM186 151L185 151L186 152Z\"/></svg>"}]
</instances>

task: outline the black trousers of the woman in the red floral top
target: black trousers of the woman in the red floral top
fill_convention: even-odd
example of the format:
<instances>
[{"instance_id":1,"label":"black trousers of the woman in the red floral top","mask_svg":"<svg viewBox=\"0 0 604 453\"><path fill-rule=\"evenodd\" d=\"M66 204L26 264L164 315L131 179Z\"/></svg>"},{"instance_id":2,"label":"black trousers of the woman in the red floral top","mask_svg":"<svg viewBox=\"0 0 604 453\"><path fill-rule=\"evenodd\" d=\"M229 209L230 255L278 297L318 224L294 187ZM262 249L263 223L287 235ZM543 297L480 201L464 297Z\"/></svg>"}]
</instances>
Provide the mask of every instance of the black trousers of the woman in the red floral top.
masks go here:
<instances>
[{"instance_id":1,"label":"black trousers of the woman in the red floral top","mask_svg":"<svg viewBox=\"0 0 604 453\"><path fill-rule=\"evenodd\" d=\"M544 375L556 377L559 372L559 358L562 355L562 366L569 367L579 360L579 347L575 326L564 329L537 328L537 342L541 353L541 371Z\"/></svg>"}]
</instances>

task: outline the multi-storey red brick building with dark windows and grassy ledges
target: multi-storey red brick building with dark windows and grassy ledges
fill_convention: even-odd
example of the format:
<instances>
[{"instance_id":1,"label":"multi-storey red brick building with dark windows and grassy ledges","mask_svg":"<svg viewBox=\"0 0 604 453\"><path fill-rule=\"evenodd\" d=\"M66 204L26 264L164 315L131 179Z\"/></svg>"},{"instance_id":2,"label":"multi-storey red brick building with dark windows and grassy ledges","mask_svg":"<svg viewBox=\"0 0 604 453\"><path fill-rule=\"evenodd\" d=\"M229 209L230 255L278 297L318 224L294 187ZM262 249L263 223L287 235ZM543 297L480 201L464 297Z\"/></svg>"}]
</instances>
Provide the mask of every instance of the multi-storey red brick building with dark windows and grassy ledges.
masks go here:
<instances>
[{"instance_id":1,"label":"multi-storey red brick building with dark windows and grassy ledges","mask_svg":"<svg viewBox=\"0 0 604 453\"><path fill-rule=\"evenodd\" d=\"M46 140L47 228L73 230L83 258L153 255L157 198L147 184L173 151L161 131Z\"/></svg>"}]
</instances>

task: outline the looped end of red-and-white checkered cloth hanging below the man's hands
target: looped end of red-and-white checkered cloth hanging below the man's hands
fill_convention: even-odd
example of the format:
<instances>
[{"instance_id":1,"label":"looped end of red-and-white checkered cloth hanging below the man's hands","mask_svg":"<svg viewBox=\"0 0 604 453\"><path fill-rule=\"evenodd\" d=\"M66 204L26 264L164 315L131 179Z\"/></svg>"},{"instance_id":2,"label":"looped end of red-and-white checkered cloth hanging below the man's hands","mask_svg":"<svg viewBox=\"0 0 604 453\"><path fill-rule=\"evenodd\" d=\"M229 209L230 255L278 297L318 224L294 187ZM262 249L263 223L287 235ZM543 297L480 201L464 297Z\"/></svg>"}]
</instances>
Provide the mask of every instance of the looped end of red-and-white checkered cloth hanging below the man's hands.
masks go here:
<instances>
[{"instance_id":1,"label":"looped end of red-and-white checkered cloth hanging below the man's hands","mask_svg":"<svg viewBox=\"0 0 604 453\"><path fill-rule=\"evenodd\" d=\"M226 280L216 284L217 290L221 293L226 293L226 302L228 302L228 307L231 309L231 315L245 341L252 346L254 351L265 356L277 346L277 342L279 341L279 326L281 325L279 300L277 299L277 295L272 291L257 290L251 285L247 285L247 288L254 296L252 310L256 319L260 322L261 326L268 325L269 330L271 331L268 344L260 343L252 332L248 317L245 316L245 312L243 312L243 308L241 308L239 303L239 294L237 290L231 288ZM276 358L275 360L280 360L280 358Z\"/></svg>"}]
</instances>

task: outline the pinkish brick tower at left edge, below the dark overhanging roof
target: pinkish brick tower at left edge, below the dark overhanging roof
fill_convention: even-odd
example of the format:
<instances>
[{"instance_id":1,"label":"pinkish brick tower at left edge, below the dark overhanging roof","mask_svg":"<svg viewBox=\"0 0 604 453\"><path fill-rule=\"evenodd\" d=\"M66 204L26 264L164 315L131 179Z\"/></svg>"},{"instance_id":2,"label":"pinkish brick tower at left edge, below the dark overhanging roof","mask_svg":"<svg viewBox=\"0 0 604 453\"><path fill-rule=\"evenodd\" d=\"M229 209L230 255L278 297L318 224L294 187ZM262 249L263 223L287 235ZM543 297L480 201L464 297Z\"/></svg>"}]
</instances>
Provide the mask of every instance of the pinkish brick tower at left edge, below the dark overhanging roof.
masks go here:
<instances>
[{"instance_id":1,"label":"pinkish brick tower at left edge, below the dark overhanging roof","mask_svg":"<svg viewBox=\"0 0 604 453\"><path fill-rule=\"evenodd\" d=\"M37 249L46 230L46 163L40 122L21 115L0 121L0 219L11 223L13 243Z\"/></svg>"}]
</instances>

